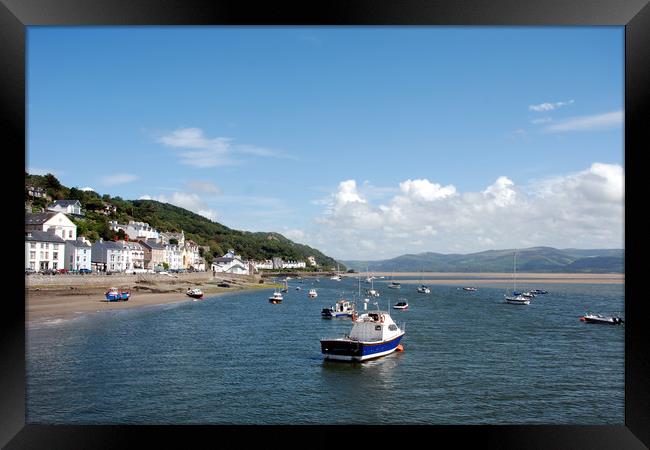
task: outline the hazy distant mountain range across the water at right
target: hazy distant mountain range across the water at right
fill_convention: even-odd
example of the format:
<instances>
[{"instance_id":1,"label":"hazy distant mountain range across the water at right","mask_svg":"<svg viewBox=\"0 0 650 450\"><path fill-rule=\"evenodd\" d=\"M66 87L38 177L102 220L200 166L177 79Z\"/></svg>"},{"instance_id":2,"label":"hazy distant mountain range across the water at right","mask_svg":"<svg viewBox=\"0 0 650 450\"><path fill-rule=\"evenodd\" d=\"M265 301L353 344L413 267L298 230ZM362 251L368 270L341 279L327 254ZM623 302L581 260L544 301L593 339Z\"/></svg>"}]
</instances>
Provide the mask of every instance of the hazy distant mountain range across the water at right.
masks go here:
<instances>
[{"instance_id":1,"label":"hazy distant mountain range across the water at right","mask_svg":"<svg viewBox=\"0 0 650 450\"><path fill-rule=\"evenodd\" d=\"M383 261L342 261L357 272L512 272L514 249L479 253L418 253ZM623 249L517 249L517 272L624 273Z\"/></svg>"}]
</instances>

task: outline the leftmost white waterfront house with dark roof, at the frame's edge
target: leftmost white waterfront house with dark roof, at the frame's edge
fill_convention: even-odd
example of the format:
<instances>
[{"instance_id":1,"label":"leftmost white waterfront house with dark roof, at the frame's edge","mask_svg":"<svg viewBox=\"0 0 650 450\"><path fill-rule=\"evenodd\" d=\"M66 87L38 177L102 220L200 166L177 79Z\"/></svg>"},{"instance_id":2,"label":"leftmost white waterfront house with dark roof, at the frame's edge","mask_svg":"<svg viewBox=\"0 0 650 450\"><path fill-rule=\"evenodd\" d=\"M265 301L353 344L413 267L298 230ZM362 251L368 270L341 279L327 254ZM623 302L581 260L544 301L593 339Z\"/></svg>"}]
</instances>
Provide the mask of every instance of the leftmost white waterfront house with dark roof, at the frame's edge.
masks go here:
<instances>
[{"instance_id":1,"label":"leftmost white waterfront house with dark roof, at the frame's edge","mask_svg":"<svg viewBox=\"0 0 650 450\"><path fill-rule=\"evenodd\" d=\"M65 241L54 230L25 231L25 268L33 270L63 269Z\"/></svg>"}]
</instances>

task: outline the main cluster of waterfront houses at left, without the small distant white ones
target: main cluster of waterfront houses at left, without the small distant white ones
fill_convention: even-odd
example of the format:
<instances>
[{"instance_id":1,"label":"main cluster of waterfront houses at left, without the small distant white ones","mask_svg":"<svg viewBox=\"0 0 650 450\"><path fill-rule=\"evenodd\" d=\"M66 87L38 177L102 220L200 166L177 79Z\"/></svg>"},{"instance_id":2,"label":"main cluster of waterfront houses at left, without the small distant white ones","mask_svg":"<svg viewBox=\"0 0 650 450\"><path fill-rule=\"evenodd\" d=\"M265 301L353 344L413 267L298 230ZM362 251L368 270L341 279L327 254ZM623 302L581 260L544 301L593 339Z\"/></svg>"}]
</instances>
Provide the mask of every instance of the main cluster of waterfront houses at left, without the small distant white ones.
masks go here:
<instances>
[{"instance_id":1,"label":"main cluster of waterfront houses at left, without the small distant white ones","mask_svg":"<svg viewBox=\"0 0 650 450\"><path fill-rule=\"evenodd\" d=\"M175 240L173 240L175 239ZM171 242L170 242L171 240ZM206 270L200 247L184 233L163 233L159 239L99 240L77 237L77 226L62 212L25 215L25 264L31 270L134 269Z\"/></svg>"}]
</instances>

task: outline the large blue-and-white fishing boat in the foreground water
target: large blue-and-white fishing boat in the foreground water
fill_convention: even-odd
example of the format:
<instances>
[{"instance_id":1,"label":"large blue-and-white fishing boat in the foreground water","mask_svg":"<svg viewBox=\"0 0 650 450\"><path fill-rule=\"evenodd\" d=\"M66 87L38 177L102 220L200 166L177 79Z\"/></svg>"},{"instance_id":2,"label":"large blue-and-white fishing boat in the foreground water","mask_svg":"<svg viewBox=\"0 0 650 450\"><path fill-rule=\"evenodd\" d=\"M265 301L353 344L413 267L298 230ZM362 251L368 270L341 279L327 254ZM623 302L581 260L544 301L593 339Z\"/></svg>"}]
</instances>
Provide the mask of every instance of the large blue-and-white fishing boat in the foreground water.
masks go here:
<instances>
[{"instance_id":1,"label":"large blue-and-white fishing boat in the foreground water","mask_svg":"<svg viewBox=\"0 0 650 450\"><path fill-rule=\"evenodd\" d=\"M402 351L400 341L405 333L386 311L355 314L350 334L338 339L322 339L321 352L325 359L366 361Z\"/></svg>"}]
</instances>

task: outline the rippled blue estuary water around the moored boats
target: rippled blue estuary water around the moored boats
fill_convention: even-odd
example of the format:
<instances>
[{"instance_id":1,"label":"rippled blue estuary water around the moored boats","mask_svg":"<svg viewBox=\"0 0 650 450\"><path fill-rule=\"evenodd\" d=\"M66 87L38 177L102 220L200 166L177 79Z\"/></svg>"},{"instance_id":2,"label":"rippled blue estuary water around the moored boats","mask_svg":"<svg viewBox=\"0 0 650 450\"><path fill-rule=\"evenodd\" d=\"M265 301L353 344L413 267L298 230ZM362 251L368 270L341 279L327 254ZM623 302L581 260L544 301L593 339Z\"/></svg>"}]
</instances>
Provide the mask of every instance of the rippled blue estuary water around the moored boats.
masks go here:
<instances>
[{"instance_id":1,"label":"rippled blue estuary water around the moored boats","mask_svg":"<svg viewBox=\"0 0 650 450\"><path fill-rule=\"evenodd\" d=\"M350 278L290 280L279 305L272 290L237 292L28 327L26 421L624 424L625 325L579 320L622 314L623 284L518 286L549 292L527 306L504 303L503 287L374 286L384 310L409 303L390 310L404 352L364 363L320 353L351 328L320 315L356 296Z\"/></svg>"}]
</instances>

